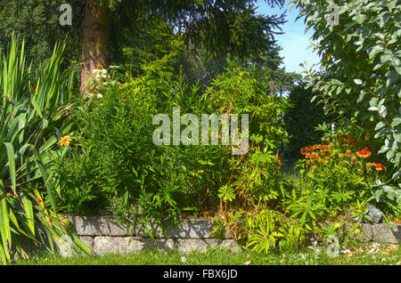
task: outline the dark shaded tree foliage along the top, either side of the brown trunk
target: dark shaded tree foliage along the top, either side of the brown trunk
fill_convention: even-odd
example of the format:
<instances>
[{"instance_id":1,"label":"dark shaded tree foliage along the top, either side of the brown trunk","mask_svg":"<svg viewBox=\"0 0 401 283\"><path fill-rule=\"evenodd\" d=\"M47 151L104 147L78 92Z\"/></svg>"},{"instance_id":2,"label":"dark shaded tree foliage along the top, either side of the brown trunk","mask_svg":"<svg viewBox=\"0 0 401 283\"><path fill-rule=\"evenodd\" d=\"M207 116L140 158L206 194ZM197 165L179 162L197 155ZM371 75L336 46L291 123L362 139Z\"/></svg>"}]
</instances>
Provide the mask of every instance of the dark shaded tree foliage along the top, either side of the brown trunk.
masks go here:
<instances>
[{"instance_id":1,"label":"dark shaded tree foliage along the top, either side of the brown trunk","mask_svg":"<svg viewBox=\"0 0 401 283\"><path fill-rule=\"evenodd\" d=\"M82 22L87 1L72 0L72 25L61 26L63 0L17 0L0 4L0 44L6 47L12 31L25 36L28 59L38 64L47 59L53 45L68 35L67 61L79 61L83 42ZM162 20L176 27L192 48L258 61L260 53L274 44L275 29L284 22L282 15L258 15L255 2L241 1L102 1L108 5L111 64L126 64L126 48L140 51L143 37L154 22ZM279 0L267 0L282 5ZM150 46L148 45L148 47ZM154 45L153 45L154 46ZM266 48L267 47L267 48ZM108 67L108 66L104 66Z\"/></svg>"}]
</instances>

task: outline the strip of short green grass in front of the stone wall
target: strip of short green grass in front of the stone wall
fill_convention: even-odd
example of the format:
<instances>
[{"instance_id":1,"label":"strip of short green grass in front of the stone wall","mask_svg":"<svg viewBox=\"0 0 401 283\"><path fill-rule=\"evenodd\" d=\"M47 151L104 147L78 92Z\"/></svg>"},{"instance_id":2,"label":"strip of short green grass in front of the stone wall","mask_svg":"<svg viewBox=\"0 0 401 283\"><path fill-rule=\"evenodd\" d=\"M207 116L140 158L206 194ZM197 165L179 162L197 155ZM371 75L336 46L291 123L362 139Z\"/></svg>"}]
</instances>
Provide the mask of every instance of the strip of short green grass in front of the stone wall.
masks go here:
<instances>
[{"instance_id":1,"label":"strip of short green grass in front of the stone wall","mask_svg":"<svg viewBox=\"0 0 401 283\"><path fill-rule=\"evenodd\" d=\"M375 245L375 246L374 246ZM312 250L294 254L271 253L256 255L249 252L234 254L224 248L208 249L206 253L192 252L187 255L146 251L126 255L85 255L61 257L41 255L19 260L14 265L399 265L400 249L397 245L365 245L356 251L345 251L331 257L324 250L317 255Z\"/></svg>"}]
</instances>

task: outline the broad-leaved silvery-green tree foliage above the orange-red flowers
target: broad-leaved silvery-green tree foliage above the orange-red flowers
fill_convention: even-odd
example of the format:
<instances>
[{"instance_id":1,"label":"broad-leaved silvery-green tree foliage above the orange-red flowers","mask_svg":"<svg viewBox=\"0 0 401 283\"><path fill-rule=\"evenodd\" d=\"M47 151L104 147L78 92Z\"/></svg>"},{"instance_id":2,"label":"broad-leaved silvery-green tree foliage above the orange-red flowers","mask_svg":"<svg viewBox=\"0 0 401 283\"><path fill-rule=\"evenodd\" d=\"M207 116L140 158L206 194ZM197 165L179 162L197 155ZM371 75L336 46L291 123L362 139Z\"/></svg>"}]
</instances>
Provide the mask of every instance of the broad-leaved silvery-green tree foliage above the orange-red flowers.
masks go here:
<instances>
[{"instance_id":1,"label":"broad-leaved silvery-green tree foliage above the orange-red flowers","mask_svg":"<svg viewBox=\"0 0 401 283\"><path fill-rule=\"evenodd\" d=\"M365 141L378 145L399 183L401 152L401 53L399 1L293 1L314 28L325 76L309 71L326 113ZM335 4L335 23L327 4ZM328 20L329 19L329 20ZM335 19L334 19L335 20ZM388 180L386 180L388 182Z\"/></svg>"}]
</instances>

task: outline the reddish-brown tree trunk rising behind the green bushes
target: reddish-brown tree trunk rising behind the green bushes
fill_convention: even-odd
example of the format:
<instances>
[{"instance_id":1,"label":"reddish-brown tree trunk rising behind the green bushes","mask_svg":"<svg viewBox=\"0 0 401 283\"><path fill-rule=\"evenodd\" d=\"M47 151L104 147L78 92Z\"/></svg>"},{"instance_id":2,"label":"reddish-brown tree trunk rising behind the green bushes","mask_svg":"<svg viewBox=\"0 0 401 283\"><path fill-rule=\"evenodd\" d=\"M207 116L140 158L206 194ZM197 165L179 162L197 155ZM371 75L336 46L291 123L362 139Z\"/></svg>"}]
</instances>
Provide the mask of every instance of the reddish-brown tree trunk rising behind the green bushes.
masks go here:
<instances>
[{"instance_id":1,"label":"reddish-brown tree trunk rising behind the green bushes","mask_svg":"<svg viewBox=\"0 0 401 283\"><path fill-rule=\"evenodd\" d=\"M93 69L107 69L110 65L110 25L107 0L86 0L82 22L83 41L81 55L81 86L84 96L90 91L92 82L85 89Z\"/></svg>"}]
</instances>

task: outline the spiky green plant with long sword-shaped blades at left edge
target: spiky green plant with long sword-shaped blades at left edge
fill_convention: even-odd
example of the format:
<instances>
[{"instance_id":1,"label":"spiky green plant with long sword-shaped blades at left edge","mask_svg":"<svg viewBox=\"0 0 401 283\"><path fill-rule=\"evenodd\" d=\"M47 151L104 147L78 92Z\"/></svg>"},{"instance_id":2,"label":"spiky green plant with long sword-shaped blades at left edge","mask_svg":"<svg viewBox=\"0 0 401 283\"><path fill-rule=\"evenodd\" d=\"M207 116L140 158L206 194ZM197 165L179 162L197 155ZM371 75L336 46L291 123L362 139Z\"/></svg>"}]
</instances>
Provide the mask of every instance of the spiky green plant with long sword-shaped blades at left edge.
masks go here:
<instances>
[{"instance_id":1,"label":"spiky green plant with long sword-shaped blades at left edge","mask_svg":"<svg viewBox=\"0 0 401 283\"><path fill-rule=\"evenodd\" d=\"M8 52L0 50L0 262L25 258L24 241L55 252L69 247L90 252L67 219L56 214L53 176L47 174L50 150L58 135L68 133L65 110L74 68L61 71L65 44L54 46L51 60L33 81L24 41L12 35ZM55 245L60 243L61 245Z\"/></svg>"}]
</instances>

